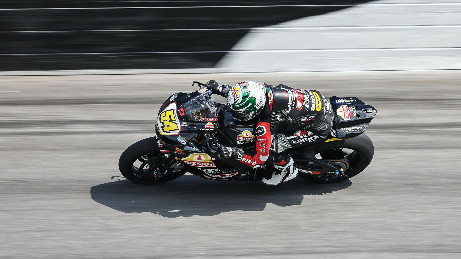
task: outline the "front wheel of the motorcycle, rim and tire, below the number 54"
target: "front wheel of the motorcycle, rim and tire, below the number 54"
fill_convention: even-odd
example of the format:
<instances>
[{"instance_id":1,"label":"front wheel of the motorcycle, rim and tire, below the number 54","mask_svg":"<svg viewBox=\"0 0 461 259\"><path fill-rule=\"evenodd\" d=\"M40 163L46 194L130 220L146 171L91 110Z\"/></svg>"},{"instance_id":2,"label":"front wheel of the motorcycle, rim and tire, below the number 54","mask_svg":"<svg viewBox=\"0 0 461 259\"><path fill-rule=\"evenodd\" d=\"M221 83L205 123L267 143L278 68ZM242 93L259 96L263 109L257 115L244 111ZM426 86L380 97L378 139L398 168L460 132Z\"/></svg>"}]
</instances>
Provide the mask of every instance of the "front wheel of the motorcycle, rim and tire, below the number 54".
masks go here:
<instances>
[{"instance_id":1,"label":"front wheel of the motorcycle, rim and tire, below the number 54","mask_svg":"<svg viewBox=\"0 0 461 259\"><path fill-rule=\"evenodd\" d=\"M154 169L162 156L155 137L142 139L130 145L122 153L118 160L118 169L126 179L140 184L160 184L174 180L186 173L183 171L167 172L162 177L156 177Z\"/></svg>"}]
</instances>

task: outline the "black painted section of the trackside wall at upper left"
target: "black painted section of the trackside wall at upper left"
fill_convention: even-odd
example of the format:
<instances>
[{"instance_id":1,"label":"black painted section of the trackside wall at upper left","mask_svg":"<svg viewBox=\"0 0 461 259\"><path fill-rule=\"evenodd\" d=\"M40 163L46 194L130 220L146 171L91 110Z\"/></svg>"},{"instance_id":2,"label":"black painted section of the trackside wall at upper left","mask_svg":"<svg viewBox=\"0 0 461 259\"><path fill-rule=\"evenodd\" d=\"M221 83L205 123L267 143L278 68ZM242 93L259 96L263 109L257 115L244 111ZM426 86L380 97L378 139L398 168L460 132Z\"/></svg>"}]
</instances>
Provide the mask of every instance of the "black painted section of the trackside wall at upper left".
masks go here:
<instances>
[{"instance_id":1,"label":"black painted section of the trackside wall at upper left","mask_svg":"<svg viewBox=\"0 0 461 259\"><path fill-rule=\"evenodd\" d=\"M348 7L331 6L338 4L337 0L101 1L97 3L85 1L43 3L0 1L2 8L6 8L5 6L8 8L95 7L96 4L99 7L126 7L135 3L137 3L136 5L142 3L142 5L147 6L166 4L169 6L192 6L198 3L207 6L222 6L224 4L226 6L231 4L312 5L320 2L324 6L0 10L0 70L213 67L225 55L226 51L230 50L251 28L321 15ZM341 1L341 4L364 2L368 1ZM236 28L239 30L225 30ZM219 53L177 53L200 51L219 51ZM146 52L149 54L129 54ZM152 52L154 54L151 54ZM159 54L158 52L174 53Z\"/></svg>"}]
</instances>

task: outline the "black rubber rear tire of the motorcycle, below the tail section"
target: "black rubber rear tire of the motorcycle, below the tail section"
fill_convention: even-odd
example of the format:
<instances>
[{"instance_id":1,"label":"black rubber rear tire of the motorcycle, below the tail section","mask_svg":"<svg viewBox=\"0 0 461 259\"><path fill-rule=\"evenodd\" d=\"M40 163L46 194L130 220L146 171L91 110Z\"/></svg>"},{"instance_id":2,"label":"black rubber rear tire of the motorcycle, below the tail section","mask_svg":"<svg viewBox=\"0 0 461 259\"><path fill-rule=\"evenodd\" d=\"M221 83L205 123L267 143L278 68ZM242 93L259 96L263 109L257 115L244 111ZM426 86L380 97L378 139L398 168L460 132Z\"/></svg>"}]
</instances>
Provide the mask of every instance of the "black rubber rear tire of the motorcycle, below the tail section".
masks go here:
<instances>
[{"instance_id":1,"label":"black rubber rear tire of the motorcycle, below the tail section","mask_svg":"<svg viewBox=\"0 0 461 259\"><path fill-rule=\"evenodd\" d=\"M314 151L315 154L319 154L323 151L335 148L352 149L357 152L357 157L361 159L361 162L357 164L354 168L349 168L344 172L344 174L349 176L349 178L352 178L355 175L361 173L372 162L374 147L372 140L368 138L368 136L365 133L362 133L359 136L354 137L352 139L325 142L324 145L318 146ZM328 181L325 181L324 177L319 178L314 175L298 174L298 176L306 181L311 181L315 183L335 183L347 179L345 177L343 177L343 179L330 177L328 178Z\"/></svg>"}]
</instances>

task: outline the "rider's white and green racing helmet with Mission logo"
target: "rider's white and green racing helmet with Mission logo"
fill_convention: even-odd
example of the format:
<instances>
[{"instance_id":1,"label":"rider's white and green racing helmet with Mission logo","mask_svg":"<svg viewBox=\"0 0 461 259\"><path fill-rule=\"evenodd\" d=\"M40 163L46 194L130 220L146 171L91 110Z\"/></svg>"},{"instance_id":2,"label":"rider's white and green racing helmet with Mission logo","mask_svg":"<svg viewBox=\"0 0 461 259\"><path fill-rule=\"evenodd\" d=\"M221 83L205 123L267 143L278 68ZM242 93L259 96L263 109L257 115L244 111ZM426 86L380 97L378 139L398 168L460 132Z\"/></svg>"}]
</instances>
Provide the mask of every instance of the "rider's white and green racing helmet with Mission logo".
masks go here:
<instances>
[{"instance_id":1,"label":"rider's white and green racing helmet with Mission logo","mask_svg":"<svg viewBox=\"0 0 461 259\"><path fill-rule=\"evenodd\" d=\"M232 117L236 120L251 120L266 104L266 86L262 82L247 81L231 87L227 95Z\"/></svg>"}]
</instances>

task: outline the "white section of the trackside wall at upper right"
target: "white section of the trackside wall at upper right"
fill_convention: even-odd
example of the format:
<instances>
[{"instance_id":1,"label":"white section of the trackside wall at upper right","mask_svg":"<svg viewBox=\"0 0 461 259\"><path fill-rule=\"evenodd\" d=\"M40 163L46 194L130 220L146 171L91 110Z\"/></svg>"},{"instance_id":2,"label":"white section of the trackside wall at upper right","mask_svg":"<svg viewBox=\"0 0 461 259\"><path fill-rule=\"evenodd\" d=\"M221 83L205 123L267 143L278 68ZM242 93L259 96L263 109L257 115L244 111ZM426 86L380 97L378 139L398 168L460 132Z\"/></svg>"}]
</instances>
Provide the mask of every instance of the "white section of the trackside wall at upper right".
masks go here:
<instances>
[{"instance_id":1,"label":"white section of the trackside wall at upper right","mask_svg":"<svg viewBox=\"0 0 461 259\"><path fill-rule=\"evenodd\" d=\"M380 0L255 28L226 72L461 69L461 0Z\"/></svg>"}]
</instances>

